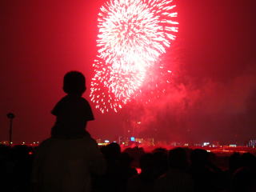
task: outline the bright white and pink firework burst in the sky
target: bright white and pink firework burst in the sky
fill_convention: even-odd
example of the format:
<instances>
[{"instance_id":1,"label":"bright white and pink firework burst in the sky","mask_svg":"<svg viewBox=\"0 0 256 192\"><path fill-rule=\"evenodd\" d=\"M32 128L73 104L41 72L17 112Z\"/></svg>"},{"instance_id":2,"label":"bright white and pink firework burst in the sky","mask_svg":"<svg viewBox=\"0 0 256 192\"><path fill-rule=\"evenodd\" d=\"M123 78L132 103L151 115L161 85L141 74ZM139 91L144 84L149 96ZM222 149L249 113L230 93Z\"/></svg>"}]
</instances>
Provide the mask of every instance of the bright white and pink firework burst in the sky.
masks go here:
<instances>
[{"instance_id":1,"label":"bright white and pink firework burst in the sky","mask_svg":"<svg viewBox=\"0 0 256 192\"><path fill-rule=\"evenodd\" d=\"M110 0L98 14L98 55L90 98L118 111L141 90L148 70L178 31L172 0Z\"/></svg>"}]
</instances>

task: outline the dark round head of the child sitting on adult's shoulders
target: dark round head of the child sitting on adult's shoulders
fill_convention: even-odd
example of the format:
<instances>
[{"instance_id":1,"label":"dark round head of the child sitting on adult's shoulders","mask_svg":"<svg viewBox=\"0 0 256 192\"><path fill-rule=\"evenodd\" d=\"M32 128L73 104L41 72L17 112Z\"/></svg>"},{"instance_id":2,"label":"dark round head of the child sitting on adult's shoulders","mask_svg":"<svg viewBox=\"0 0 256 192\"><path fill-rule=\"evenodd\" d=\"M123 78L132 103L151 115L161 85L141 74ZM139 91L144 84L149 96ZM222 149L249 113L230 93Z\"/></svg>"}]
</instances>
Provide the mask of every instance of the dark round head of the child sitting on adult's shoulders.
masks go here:
<instances>
[{"instance_id":1,"label":"dark round head of the child sitting on adult's shoulders","mask_svg":"<svg viewBox=\"0 0 256 192\"><path fill-rule=\"evenodd\" d=\"M82 95L86 91L86 78L78 71L70 71L64 76L63 90L66 94Z\"/></svg>"}]
</instances>

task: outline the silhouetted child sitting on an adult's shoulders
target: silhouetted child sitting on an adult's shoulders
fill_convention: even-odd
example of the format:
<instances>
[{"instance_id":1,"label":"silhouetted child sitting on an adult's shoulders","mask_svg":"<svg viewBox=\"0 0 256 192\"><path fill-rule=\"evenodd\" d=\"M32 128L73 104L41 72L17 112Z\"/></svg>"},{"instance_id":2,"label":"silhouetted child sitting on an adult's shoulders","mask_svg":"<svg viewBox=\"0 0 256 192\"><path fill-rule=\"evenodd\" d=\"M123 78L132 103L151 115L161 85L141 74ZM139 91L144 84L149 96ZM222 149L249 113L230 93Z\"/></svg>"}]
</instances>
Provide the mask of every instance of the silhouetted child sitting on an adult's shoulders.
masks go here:
<instances>
[{"instance_id":1,"label":"silhouetted child sitting on an adult's shoulders","mask_svg":"<svg viewBox=\"0 0 256 192\"><path fill-rule=\"evenodd\" d=\"M51 130L52 138L83 138L90 135L86 131L88 121L94 120L89 102L82 98L86 91L86 78L78 71L70 71L64 76L62 98L51 111L56 122Z\"/></svg>"}]
</instances>

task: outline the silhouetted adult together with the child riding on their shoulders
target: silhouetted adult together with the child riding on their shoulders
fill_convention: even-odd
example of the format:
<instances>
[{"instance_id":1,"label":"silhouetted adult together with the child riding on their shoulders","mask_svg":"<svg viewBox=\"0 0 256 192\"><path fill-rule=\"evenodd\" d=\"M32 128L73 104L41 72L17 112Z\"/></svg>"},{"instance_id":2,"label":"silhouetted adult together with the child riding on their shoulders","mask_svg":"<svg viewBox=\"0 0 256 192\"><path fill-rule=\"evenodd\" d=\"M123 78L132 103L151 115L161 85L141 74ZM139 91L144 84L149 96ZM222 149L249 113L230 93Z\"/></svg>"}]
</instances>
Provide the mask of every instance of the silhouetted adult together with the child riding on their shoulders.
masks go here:
<instances>
[{"instance_id":1,"label":"silhouetted adult together with the child riding on their shoulders","mask_svg":"<svg viewBox=\"0 0 256 192\"><path fill-rule=\"evenodd\" d=\"M105 159L97 142L85 130L94 120L89 103L82 94L86 78L78 71L64 76L62 98L52 114L56 122L51 138L40 143L34 154L31 175L33 191L91 191L91 174L104 174Z\"/></svg>"}]
</instances>

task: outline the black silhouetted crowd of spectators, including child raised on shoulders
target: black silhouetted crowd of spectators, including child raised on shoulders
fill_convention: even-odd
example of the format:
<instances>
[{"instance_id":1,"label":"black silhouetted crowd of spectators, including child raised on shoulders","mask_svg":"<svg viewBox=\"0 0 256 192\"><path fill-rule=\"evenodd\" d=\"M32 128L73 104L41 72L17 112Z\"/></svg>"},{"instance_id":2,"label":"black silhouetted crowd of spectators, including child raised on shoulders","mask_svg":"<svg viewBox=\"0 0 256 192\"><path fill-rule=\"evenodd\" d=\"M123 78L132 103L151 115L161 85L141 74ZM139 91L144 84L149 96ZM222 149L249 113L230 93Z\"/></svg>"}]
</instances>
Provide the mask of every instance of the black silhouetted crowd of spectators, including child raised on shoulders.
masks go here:
<instances>
[{"instance_id":1,"label":"black silhouetted crowd of spectators, including child raised on shoulders","mask_svg":"<svg viewBox=\"0 0 256 192\"><path fill-rule=\"evenodd\" d=\"M229 166L202 149L98 147L86 131L94 120L82 94L85 77L67 73L66 96L54 107L50 138L37 147L0 145L1 191L11 192L255 192L256 158L234 153ZM141 172L138 172L138 168Z\"/></svg>"}]
</instances>

